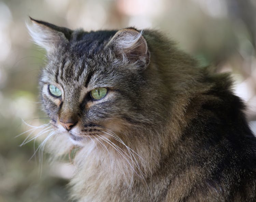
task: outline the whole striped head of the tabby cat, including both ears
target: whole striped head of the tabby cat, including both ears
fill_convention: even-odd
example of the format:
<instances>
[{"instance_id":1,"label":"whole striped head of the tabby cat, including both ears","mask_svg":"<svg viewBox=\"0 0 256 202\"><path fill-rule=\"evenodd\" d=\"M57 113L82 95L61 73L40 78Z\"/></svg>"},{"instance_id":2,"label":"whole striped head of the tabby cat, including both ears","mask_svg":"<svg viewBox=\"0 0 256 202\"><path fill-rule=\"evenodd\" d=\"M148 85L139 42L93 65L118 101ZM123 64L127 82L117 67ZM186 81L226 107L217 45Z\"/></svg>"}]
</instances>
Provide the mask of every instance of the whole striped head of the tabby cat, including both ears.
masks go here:
<instances>
[{"instance_id":1,"label":"whole striped head of the tabby cat, including both ears","mask_svg":"<svg viewBox=\"0 0 256 202\"><path fill-rule=\"evenodd\" d=\"M68 30L68 36L49 24L32 23L32 37L47 50L41 98L57 132L68 133L75 144L83 145L98 135L126 133L146 120L143 71L149 53L140 32Z\"/></svg>"}]
</instances>

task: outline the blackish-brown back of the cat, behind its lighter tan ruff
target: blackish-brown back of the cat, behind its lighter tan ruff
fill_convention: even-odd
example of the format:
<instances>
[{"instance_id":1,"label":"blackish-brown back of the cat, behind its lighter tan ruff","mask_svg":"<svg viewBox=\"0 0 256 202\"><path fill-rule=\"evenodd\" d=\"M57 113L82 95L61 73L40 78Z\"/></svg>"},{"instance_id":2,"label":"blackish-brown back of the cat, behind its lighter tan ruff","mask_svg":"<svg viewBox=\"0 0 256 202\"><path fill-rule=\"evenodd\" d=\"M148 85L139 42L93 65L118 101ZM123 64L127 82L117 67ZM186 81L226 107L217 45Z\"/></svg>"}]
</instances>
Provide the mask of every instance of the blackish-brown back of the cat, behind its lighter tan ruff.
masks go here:
<instances>
[{"instance_id":1,"label":"blackish-brown back of the cat, behind its lighter tan ruff","mask_svg":"<svg viewBox=\"0 0 256 202\"><path fill-rule=\"evenodd\" d=\"M179 179L187 191L182 200L256 201L256 138L246 122L245 105L232 93L227 74L202 72L201 82L211 87L191 98L187 113L193 116L175 152L184 154L175 162L182 173L176 175L195 177L192 184ZM168 200L172 197L170 193Z\"/></svg>"}]
</instances>

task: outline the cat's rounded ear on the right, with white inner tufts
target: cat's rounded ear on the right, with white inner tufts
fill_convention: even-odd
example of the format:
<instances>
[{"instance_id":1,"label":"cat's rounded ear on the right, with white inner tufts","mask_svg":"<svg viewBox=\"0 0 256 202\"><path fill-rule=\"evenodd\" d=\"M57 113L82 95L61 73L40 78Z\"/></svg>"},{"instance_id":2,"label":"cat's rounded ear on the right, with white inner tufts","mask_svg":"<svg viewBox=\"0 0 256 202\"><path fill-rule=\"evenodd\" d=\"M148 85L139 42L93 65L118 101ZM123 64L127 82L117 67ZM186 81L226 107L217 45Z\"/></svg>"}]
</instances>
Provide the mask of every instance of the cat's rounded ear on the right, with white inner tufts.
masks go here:
<instances>
[{"instance_id":1,"label":"cat's rounded ear on the right, with white inner tufts","mask_svg":"<svg viewBox=\"0 0 256 202\"><path fill-rule=\"evenodd\" d=\"M117 57L124 58L125 56L129 62L148 65L150 61L150 52L142 31L139 32L133 28L120 30L112 37L108 46L114 49Z\"/></svg>"}]
</instances>

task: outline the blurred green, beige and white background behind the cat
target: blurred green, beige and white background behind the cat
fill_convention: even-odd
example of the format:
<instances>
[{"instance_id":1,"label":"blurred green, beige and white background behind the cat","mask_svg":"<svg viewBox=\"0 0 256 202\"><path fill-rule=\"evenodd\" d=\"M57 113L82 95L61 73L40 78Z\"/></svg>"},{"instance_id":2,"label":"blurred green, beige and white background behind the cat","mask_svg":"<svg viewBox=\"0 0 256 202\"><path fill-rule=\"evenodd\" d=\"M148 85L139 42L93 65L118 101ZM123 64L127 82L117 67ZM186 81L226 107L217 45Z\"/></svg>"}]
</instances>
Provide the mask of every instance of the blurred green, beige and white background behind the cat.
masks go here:
<instances>
[{"instance_id":1,"label":"blurred green, beige and white background behind the cat","mask_svg":"<svg viewBox=\"0 0 256 202\"><path fill-rule=\"evenodd\" d=\"M19 147L29 132L15 138L31 129L25 122L47 122L37 87L45 55L31 42L28 16L86 31L161 30L201 65L232 73L256 132L255 0L0 0L0 202L68 201L69 161L41 164L37 141Z\"/></svg>"}]
</instances>

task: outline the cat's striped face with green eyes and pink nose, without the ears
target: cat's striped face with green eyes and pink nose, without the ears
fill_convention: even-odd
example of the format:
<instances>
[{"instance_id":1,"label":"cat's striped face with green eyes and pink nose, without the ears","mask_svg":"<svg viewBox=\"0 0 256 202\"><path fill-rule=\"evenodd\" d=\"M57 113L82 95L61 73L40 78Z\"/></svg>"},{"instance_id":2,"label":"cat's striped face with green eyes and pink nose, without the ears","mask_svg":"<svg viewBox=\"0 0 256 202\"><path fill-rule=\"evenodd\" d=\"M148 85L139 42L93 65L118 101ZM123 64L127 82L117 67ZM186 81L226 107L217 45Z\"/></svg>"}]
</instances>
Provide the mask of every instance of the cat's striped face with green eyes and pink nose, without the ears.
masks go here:
<instances>
[{"instance_id":1,"label":"cat's striped face with green eyes and pink nose, without the ears","mask_svg":"<svg viewBox=\"0 0 256 202\"><path fill-rule=\"evenodd\" d=\"M105 54L77 58L66 52L43 70L42 100L58 132L68 132L75 141L86 141L88 136L104 135L106 129L122 131L128 124L127 109L136 108L130 98L139 89L127 86L127 82L141 82L142 78L111 63Z\"/></svg>"}]
</instances>

